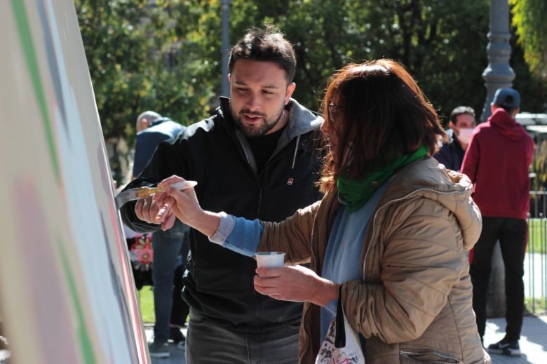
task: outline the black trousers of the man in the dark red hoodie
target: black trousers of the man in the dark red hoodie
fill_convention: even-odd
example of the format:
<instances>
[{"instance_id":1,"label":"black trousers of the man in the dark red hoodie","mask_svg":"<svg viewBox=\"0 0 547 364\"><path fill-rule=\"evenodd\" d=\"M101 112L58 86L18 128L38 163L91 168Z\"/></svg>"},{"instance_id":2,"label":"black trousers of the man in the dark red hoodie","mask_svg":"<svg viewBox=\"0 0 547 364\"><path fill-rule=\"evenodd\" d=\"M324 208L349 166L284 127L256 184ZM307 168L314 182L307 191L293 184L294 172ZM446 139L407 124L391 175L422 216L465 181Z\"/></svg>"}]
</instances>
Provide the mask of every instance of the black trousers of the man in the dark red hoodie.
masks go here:
<instances>
[{"instance_id":1,"label":"black trousers of the man in the dark red hoodie","mask_svg":"<svg viewBox=\"0 0 547 364\"><path fill-rule=\"evenodd\" d=\"M527 238L526 220L505 217L482 217L482 232L473 248L469 273L473 282L473 310L477 316L480 338L485 335L487 288L492 267L492 253L499 240L505 265L506 338L520 339L524 311L524 257Z\"/></svg>"}]
</instances>

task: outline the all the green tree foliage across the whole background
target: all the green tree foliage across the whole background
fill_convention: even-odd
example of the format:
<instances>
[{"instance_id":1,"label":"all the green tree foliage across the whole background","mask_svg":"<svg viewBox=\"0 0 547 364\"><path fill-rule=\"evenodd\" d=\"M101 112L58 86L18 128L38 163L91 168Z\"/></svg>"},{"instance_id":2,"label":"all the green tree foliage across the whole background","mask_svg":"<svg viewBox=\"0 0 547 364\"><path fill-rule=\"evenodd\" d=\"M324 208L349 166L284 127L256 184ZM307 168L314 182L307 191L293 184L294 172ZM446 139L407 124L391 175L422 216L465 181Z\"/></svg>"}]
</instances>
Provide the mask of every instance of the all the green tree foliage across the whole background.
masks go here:
<instances>
[{"instance_id":1,"label":"all the green tree foliage across the whole background","mask_svg":"<svg viewBox=\"0 0 547 364\"><path fill-rule=\"evenodd\" d=\"M144 109L189 124L218 105L221 0L74 1L105 136L131 142L135 117ZM517 4L547 6L544 0L514 2L513 19L520 17L515 24L528 26L541 17L522 15ZM310 109L318 109L337 69L392 58L409 69L441 116L457 105L480 114L489 5L489 0L231 0L231 42L266 22L283 32L297 54L295 98ZM544 28L547 22L541 22ZM543 39L544 49L545 38L530 39ZM527 43L521 43L527 52ZM526 90L523 106L542 112L546 81L526 69L520 46L513 45L511 66L515 86Z\"/></svg>"}]
</instances>

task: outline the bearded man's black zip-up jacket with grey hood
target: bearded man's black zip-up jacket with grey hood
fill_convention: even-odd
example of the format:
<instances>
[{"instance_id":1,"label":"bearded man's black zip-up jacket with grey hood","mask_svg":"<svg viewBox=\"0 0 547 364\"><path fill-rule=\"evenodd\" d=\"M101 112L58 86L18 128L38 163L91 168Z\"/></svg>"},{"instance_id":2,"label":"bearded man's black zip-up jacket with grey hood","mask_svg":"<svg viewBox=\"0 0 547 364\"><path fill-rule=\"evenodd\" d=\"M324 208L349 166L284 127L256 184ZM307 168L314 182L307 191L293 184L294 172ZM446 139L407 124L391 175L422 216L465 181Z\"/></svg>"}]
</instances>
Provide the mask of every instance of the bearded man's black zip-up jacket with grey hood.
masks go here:
<instances>
[{"instance_id":1,"label":"bearded man's black zip-up jacket with grey hood","mask_svg":"<svg viewBox=\"0 0 547 364\"><path fill-rule=\"evenodd\" d=\"M204 210L225 211L246 219L278 222L321 198L317 151L323 119L290 100L290 117L274 154L257 175L252 151L235 128L229 99L221 97L215 115L162 142L144 171L126 189L152 186L170 175L198 182L196 195ZM123 222L135 231L154 231L135 216L135 201L121 208ZM298 323L302 304L283 302L256 292L255 259L210 243L194 229L190 234L188 271L183 297L203 316L234 330L258 332Z\"/></svg>"}]
</instances>

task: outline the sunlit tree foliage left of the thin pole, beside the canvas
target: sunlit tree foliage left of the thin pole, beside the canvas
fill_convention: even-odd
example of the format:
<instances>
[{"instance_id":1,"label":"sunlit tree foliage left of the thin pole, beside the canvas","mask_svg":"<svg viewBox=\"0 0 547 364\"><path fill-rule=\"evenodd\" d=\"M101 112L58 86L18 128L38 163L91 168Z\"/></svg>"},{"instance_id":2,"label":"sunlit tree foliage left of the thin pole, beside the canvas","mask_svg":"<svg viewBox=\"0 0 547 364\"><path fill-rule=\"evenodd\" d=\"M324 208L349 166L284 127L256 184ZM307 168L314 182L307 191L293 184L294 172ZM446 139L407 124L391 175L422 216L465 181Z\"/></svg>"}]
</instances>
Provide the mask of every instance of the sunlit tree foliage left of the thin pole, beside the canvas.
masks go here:
<instances>
[{"instance_id":1,"label":"sunlit tree foliage left of the thin pole, beside the canvas","mask_svg":"<svg viewBox=\"0 0 547 364\"><path fill-rule=\"evenodd\" d=\"M105 137L132 140L147 109L182 123L207 114L213 90L198 34L204 8L150 3L75 0Z\"/></svg>"}]
</instances>

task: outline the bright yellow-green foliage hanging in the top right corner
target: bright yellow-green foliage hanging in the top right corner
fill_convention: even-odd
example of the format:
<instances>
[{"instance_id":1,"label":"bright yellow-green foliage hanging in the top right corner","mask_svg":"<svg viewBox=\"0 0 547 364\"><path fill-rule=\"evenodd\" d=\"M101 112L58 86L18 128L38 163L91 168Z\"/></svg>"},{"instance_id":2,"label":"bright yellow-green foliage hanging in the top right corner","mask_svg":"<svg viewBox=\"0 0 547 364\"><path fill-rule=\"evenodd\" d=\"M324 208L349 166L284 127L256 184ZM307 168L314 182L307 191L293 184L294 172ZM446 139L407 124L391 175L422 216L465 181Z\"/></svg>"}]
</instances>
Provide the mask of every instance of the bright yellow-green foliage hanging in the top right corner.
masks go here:
<instances>
[{"instance_id":1,"label":"bright yellow-green foliage hanging in the top right corner","mask_svg":"<svg viewBox=\"0 0 547 364\"><path fill-rule=\"evenodd\" d=\"M509 0L518 43L532 72L547 79L547 1Z\"/></svg>"}]
</instances>

